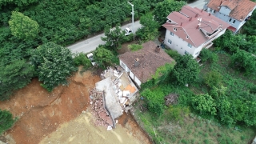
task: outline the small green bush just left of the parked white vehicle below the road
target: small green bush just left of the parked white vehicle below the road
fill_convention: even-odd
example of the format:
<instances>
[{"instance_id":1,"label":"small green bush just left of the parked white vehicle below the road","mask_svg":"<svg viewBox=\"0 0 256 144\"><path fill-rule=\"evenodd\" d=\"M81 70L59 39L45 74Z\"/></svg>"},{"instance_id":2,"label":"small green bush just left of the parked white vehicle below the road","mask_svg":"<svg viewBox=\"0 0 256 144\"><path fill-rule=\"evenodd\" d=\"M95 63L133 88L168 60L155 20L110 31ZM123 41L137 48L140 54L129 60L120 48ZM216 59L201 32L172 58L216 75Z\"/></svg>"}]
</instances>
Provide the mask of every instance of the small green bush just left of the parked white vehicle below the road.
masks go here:
<instances>
[{"instance_id":1,"label":"small green bush just left of the parked white vehicle below the road","mask_svg":"<svg viewBox=\"0 0 256 144\"><path fill-rule=\"evenodd\" d=\"M86 54L78 53L74 55L74 65L84 66L86 69L91 66L90 60L86 58Z\"/></svg>"}]
</instances>

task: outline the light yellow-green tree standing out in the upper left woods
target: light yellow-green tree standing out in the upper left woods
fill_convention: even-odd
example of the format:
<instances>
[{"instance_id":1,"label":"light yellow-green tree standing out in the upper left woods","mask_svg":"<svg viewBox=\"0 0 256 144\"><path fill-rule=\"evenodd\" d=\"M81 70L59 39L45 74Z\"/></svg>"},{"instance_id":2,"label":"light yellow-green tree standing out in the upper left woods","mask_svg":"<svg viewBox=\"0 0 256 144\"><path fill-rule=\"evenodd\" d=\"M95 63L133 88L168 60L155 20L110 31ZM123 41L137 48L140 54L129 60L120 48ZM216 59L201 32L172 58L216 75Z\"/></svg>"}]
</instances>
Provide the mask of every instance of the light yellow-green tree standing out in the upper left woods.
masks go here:
<instances>
[{"instance_id":1,"label":"light yellow-green tree standing out in the upper left woods","mask_svg":"<svg viewBox=\"0 0 256 144\"><path fill-rule=\"evenodd\" d=\"M20 39L35 38L38 35L38 22L24 14L13 11L9 21L11 34Z\"/></svg>"}]
</instances>

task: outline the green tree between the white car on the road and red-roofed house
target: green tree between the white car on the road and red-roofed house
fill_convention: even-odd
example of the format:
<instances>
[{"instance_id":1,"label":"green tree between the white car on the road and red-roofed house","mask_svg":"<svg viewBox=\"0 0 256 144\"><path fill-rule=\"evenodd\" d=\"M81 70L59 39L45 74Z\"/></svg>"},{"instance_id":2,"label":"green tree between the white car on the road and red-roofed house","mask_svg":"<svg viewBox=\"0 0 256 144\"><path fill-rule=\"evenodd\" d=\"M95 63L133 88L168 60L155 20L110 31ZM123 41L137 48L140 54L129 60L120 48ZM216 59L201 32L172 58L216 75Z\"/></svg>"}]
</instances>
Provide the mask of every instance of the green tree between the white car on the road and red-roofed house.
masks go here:
<instances>
[{"instance_id":1,"label":"green tree between the white car on the road and red-roofed house","mask_svg":"<svg viewBox=\"0 0 256 144\"><path fill-rule=\"evenodd\" d=\"M160 25L154 20L151 13L142 15L140 24L142 24L142 28L139 28L138 31L136 31L136 36L142 39L142 41L147 42L158 36L158 28Z\"/></svg>"}]
</instances>

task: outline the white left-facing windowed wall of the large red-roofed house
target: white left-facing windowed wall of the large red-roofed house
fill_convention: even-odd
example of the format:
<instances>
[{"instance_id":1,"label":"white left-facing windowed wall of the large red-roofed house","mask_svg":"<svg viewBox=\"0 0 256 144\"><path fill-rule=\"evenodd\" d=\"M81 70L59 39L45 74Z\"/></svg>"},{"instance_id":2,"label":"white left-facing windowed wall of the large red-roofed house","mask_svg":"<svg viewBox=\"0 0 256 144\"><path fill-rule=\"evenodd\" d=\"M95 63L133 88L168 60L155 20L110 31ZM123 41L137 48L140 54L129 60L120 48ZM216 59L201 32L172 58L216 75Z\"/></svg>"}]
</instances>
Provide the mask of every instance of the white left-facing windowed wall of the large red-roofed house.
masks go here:
<instances>
[{"instance_id":1,"label":"white left-facing windowed wall of the large red-roofed house","mask_svg":"<svg viewBox=\"0 0 256 144\"><path fill-rule=\"evenodd\" d=\"M171 40L171 44L168 43L168 39ZM166 46L170 47L170 49L172 50L176 50L178 51L178 54L185 54L185 50L193 55L193 57L197 57L198 55L196 55L195 51L200 51L198 48L192 46L192 48L188 47L188 42L184 41L182 38L178 38L177 35L174 34L174 36L170 35L170 30L166 30L166 39L165 39L165 44ZM190 43L191 45L193 43ZM201 48L202 50L202 48Z\"/></svg>"}]
</instances>

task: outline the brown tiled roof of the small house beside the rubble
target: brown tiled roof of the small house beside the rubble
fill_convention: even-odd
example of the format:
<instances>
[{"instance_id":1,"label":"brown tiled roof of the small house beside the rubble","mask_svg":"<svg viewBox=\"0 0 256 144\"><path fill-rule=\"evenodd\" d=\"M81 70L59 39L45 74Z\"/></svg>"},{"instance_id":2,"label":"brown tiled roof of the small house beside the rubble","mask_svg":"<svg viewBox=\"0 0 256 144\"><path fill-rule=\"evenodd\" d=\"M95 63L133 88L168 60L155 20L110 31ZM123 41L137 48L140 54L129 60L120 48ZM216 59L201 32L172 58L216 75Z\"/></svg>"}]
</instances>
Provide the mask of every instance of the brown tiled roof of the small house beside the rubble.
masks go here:
<instances>
[{"instance_id":1,"label":"brown tiled roof of the small house beside the rubble","mask_svg":"<svg viewBox=\"0 0 256 144\"><path fill-rule=\"evenodd\" d=\"M122 62L141 82L151 79L159 66L175 62L162 48L159 48L159 52L156 52L157 45L152 41L143 43L142 46L141 50L129 51L119 55ZM134 66L135 59L138 60L138 66Z\"/></svg>"}]
</instances>

